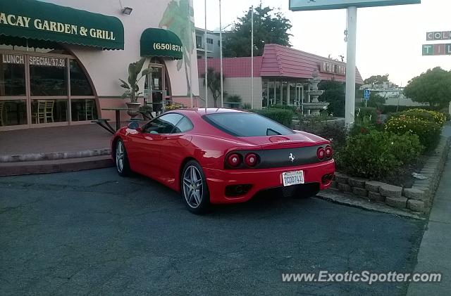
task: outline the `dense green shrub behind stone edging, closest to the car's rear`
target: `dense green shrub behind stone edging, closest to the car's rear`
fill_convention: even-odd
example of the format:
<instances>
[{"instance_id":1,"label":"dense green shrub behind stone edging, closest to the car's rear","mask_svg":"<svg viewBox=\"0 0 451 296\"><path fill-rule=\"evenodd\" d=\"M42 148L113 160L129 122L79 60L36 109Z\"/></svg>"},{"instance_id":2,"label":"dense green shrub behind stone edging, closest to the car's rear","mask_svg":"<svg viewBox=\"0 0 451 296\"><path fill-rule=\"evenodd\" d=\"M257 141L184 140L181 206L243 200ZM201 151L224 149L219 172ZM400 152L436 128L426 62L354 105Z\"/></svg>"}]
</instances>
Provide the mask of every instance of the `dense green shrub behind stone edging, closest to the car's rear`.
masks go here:
<instances>
[{"instance_id":1,"label":"dense green shrub behind stone edging, closest to the car's rear","mask_svg":"<svg viewBox=\"0 0 451 296\"><path fill-rule=\"evenodd\" d=\"M351 136L335 159L338 169L349 174L380 179L396 174L402 165L418 157L421 149L416 135L369 131Z\"/></svg>"}]
</instances>

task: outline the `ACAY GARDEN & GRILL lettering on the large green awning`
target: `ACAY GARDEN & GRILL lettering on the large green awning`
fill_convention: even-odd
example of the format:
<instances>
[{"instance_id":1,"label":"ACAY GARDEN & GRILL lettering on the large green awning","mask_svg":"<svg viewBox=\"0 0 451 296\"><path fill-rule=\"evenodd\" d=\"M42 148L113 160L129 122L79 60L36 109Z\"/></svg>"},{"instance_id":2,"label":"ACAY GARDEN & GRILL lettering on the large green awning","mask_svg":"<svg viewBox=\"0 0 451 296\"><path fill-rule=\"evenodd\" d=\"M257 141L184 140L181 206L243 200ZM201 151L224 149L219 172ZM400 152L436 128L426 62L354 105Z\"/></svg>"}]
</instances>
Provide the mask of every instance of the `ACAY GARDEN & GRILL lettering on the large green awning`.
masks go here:
<instances>
[{"instance_id":1,"label":"ACAY GARDEN & GRILL lettering on the large green awning","mask_svg":"<svg viewBox=\"0 0 451 296\"><path fill-rule=\"evenodd\" d=\"M94 27L85 27L82 25L73 25L63 22L54 22L51 20L42 20L39 18L29 18L23 15L13 15L0 13L0 25L10 25L13 27L23 27L48 32L58 32L64 34L79 35L82 37L92 37L104 40L116 40L112 31L100 30Z\"/></svg>"}]
</instances>

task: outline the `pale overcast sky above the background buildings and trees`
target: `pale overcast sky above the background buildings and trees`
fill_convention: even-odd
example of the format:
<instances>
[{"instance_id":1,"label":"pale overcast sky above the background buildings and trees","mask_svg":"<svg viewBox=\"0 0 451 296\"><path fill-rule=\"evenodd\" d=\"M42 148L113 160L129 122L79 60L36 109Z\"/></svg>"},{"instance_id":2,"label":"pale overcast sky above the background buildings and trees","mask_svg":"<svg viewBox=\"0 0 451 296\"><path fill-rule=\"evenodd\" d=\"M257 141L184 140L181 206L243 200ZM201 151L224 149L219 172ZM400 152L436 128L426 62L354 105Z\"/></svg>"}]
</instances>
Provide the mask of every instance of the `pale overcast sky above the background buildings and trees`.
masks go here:
<instances>
[{"instance_id":1,"label":"pale overcast sky above the background buildings and trees","mask_svg":"<svg viewBox=\"0 0 451 296\"><path fill-rule=\"evenodd\" d=\"M194 1L196 27L204 27L204 0ZM207 0L207 29L219 27L218 0ZM223 27L234 22L259 0L223 0ZM280 8L291 20L295 49L333 58L346 56L343 31L346 10L288 10L288 0L262 0L264 6ZM388 73L390 80L405 86L409 79L440 66L451 70L451 56L421 56L426 32L451 31L451 1L421 0L421 4L359 8L357 11L357 67L365 79ZM435 43L447 43L436 41ZM449 41L451 43L451 41Z\"/></svg>"}]
</instances>

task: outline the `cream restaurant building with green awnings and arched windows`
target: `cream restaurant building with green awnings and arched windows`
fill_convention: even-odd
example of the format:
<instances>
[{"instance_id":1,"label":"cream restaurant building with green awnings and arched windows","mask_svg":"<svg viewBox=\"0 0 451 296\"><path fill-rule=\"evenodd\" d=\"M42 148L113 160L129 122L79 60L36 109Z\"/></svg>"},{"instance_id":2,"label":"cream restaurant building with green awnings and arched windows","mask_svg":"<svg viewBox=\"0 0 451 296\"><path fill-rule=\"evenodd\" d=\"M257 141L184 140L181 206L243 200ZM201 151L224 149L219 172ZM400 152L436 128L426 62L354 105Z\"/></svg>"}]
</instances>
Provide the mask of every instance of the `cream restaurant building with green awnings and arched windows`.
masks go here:
<instances>
[{"instance_id":1,"label":"cream restaurant building with green awnings and arched windows","mask_svg":"<svg viewBox=\"0 0 451 296\"><path fill-rule=\"evenodd\" d=\"M0 131L113 120L141 57L141 103L197 98L192 1L61 2L0 1Z\"/></svg>"}]
</instances>

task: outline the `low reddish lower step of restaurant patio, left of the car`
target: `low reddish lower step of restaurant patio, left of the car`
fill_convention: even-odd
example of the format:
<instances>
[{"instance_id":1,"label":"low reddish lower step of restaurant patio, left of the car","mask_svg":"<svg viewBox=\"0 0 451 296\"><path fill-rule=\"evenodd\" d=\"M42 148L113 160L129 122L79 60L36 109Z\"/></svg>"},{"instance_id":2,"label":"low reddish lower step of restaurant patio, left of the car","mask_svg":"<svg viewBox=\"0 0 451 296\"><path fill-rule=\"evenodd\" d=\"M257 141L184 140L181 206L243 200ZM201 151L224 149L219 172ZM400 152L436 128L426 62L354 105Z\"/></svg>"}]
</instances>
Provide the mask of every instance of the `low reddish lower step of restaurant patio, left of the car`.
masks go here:
<instances>
[{"instance_id":1,"label":"low reddish lower step of restaurant patio, left of the car","mask_svg":"<svg viewBox=\"0 0 451 296\"><path fill-rule=\"evenodd\" d=\"M27 162L0 162L0 176L18 176L24 174L48 174L73 172L85 169L113 167L110 155L76 157L59 160L37 160Z\"/></svg>"}]
</instances>

